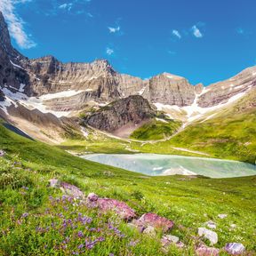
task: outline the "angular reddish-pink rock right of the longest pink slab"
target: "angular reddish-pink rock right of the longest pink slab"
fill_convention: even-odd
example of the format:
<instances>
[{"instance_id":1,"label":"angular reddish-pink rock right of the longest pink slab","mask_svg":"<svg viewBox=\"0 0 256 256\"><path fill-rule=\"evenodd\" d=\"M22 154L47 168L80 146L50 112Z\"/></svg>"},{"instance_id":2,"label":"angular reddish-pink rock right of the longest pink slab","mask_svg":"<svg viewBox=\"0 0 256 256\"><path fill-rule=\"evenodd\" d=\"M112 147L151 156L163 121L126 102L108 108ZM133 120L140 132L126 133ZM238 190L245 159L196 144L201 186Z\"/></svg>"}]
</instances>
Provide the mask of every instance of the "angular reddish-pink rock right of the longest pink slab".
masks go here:
<instances>
[{"instance_id":1,"label":"angular reddish-pink rock right of the longest pink slab","mask_svg":"<svg viewBox=\"0 0 256 256\"><path fill-rule=\"evenodd\" d=\"M148 212L143 214L139 220L134 221L136 226L139 227L148 227L152 226L154 228L160 228L164 232L170 230L174 223L172 220L168 220L164 217L158 216L156 213Z\"/></svg>"}]
</instances>

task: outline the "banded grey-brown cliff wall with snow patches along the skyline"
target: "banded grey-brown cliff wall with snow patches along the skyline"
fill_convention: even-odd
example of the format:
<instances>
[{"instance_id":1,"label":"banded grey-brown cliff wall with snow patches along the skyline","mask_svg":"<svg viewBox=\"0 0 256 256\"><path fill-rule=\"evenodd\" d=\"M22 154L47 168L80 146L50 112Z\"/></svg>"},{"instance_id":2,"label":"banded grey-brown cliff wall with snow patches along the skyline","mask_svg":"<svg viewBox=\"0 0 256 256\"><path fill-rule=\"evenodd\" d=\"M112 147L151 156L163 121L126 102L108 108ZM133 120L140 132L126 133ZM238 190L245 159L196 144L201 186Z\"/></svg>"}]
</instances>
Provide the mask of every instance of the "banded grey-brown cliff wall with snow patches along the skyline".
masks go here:
<instances>
[{"instance_id":1,"label":"banded grey-brown cliff wall with snow patches along the skyline","mask_svg":"<svg viewBox=\"0 0 256 256\"><path fill-rule=\"evenodd\" d=\"M227 102L244 97L255 87L256 67L247 68L226 81L204 87L203 84L194 86L186 78L169 73L147 80L119 74L108 60L62 63L53 56L28 60L12 47L4 16L0 12L0 110L9 117L13 116L11 108L20 108L21 105L29 111L38 109L59 118L75 116L77 111L86 106L101 106L118 100L110 112L104 112L104 115L103 112L97 113L88 122L109 131L126 122L134 120L136 123L137 117L140 117L139 121L144 118L140 116L141 106L145 110L143 113L149 111L146 111L150 107L145 102L155 104L156 108L172 118L194 122L198 117L207 117L209 111L219 111ZM140 100L134 95L140 96L140 100L144 98L141 106L138 103ZM130 99L129 104L126 98ZM125 112L122 104L128 108L128 112ZM96 117L105 118L104 124L97 121ZM109 120L106 121L106 118Z\"/></svg>"}]
</instances>

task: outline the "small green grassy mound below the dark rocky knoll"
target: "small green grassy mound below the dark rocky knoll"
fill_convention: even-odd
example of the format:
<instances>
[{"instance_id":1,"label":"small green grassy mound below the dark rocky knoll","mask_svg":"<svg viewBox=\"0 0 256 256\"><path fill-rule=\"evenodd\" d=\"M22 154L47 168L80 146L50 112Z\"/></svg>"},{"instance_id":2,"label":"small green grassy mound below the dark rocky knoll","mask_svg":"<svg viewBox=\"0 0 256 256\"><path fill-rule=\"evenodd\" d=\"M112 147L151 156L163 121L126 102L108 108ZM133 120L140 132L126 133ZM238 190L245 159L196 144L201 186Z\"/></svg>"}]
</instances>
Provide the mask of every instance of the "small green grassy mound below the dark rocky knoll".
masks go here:
<instances>
[{"instance_id":1,"label":"small green grassy mound below the dark rocky knoll","mask_svg":"<svg viewBox=\"0 0 256 256\"><path fill-rule=\"evenodd\" d=\"M147 124L132 132L131 138L136 140L163 140L172 136L180 128L180 122L177 121L159 121L153 119Z\"/></svg>"}]
</instances>

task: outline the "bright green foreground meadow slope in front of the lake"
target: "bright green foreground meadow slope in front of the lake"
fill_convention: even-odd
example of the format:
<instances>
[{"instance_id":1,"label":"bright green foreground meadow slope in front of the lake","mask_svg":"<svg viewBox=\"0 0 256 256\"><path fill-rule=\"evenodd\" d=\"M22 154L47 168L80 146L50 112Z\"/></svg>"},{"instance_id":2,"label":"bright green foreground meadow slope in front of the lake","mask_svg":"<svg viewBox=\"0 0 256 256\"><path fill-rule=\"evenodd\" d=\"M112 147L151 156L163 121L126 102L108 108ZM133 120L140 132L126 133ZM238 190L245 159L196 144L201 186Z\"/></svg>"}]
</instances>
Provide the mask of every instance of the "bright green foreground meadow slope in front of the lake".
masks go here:
<instances>
[{"instance_id":1,"label":"bright green foreground meadow slope in front of the lake","mask_svg":"<svg viewBox=\"0 0 256 256\"><path fill-rule=\"evenodd\" d=\"M207 220L217 223L216 232L220 240L217 247L236 241L242 242L248 250L256 250L255 244L252 243L256 228L255 177L225 180L180 180L179 176L148 178L139 173L94 164L71 156L59 148L23 139L2 125L0 148L8 152L7 158L0 158L0 230L4 230L0 233L1 255L70 255L51 249L54 239L63 239L59 233L58 235L51 231L38 235L35 232L36 225L45 228L49 225L49 216L44 213L45 208L49 207L55 214L64 211L61 207L52 208L49 204L48 196L60 195L59 189L47 187L47 180L53 177L79 186L85 193L95 192L100 196L124 200L138 214L156 212L174 220L176 228L172 230L172 234L180 236L189 246L186 252L173 249L169 255L194 255L195 240L191 239L191 236L196 235L196 229L204 226ZM21 164L13 165L13 161L21 161ZM9 175L6 176L6 173ZM28 190L24 191L23 186L28 187ZM96 219L95 225L100 225L99 218L102 217L97 217L97 212L84 208L78 210L92 216ZM72 212L68 211L64 213L67 218L71 218ZM20 224L20 215L24 212L28 212L29 217ZM219 213L228 213L228 218L218 219ZM58 219L56 221L58 222ZM230 224L236 224L237 228L231 230ZM178 225L183 228L177 228ZM125 234L123 239L113 236L88 254L162 254L157 239L153 241L140 236L122 223L118 224L118 228ZM129 247L127 244L132 239L139 239L140 243ZM51 248L44 247L45 241ZM75 246L70 250L76 250L77 244L70 246Z\"/></svg>"}]
</instances>

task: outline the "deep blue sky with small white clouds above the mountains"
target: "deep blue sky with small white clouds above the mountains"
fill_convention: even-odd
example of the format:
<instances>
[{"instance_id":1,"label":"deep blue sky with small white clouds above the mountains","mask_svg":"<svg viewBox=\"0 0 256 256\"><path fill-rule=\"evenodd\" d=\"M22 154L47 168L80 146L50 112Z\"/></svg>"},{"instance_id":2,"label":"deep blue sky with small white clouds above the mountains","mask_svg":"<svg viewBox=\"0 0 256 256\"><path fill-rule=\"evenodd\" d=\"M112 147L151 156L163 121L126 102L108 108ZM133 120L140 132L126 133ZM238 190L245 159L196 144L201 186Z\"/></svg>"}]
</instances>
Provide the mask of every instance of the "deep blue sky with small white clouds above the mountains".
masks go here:
<instances>
[{"instance_id":1,"label":"deep blue sky with small white clouds above the mountains","mask_svg":"<svg viewBox=\"0 0 256 256\"><path fill-rule=\"evenodd\" d=\"M216 83L256 65L255 0L0 0L29 58L107 59L143 79Z\"/></svg>"}]
</instances>

